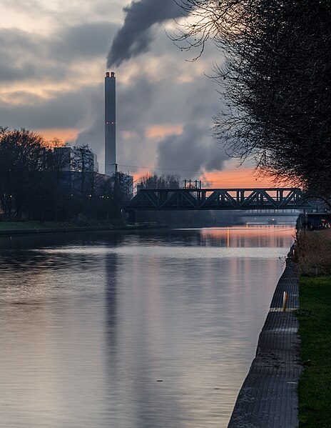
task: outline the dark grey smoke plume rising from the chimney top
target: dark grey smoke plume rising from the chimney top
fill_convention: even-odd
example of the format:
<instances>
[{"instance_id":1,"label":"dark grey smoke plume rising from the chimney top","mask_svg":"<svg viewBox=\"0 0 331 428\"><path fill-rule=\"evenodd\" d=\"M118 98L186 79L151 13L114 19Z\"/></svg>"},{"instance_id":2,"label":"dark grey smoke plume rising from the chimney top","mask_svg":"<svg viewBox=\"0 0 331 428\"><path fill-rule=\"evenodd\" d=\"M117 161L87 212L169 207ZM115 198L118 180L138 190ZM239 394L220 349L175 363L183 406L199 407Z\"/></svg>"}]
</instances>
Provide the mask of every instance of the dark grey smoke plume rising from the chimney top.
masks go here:
<instances>
[{"instance_id":1,"label":"dark grey smoke plume rising from the chimney top","mask_svg":"<svg viewBox=\"0 0 331 428\"><path fill-rule=\"evenodd\" d=\"M126 19L113 39L108 54L107 68L148 51L153 41L153 26L183 15L174 0L132 1L123 8Z\"/></svg>"}]
</instances>

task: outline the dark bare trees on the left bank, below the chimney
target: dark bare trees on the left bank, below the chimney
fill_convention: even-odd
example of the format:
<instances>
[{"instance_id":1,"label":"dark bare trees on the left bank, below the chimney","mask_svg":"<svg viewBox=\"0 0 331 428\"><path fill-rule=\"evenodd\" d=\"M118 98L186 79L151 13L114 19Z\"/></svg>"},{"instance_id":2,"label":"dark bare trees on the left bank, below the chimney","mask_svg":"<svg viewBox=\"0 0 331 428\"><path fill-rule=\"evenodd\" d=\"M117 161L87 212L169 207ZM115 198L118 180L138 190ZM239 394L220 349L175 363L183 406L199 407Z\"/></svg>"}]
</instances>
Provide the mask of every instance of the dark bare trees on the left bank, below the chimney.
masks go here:
<instances>
[{"instance_id":1,"label":"dark bare trees on the left bank, below the chimney","mask_svg":"<svg viewBox=\"0 0 331 428\"><path fill-rule=\"evenodd\" d=\"M27 129L0 128L2 219L121 219L125 174L98 174L90 165L88 146L78 147L73 159L68 159L65 150L58 150L61 146L58 139L47 143Z\"/></svg>"}]
</instances>

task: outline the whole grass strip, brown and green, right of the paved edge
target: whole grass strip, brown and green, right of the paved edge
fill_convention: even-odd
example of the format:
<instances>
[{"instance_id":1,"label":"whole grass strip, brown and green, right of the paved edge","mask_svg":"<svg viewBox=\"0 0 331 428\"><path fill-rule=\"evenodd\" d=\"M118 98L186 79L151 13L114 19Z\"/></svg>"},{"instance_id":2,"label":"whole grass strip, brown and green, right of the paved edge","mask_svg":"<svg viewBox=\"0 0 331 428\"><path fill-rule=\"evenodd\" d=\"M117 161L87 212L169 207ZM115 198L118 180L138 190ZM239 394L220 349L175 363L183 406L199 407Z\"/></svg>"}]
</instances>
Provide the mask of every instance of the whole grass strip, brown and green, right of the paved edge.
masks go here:
<instances>
[{"instance_id":1,"label":"whole grass strip, brown and green, right of the paved edge","mask_svg":"<svg viewBox=\"0 0 331 428\"><path fill-rule=\"evenodd\" d=\"M299 383L300 427L331 427L331 231L302 233L297 312L304 372Z\"/></svg>"}]
</instances>

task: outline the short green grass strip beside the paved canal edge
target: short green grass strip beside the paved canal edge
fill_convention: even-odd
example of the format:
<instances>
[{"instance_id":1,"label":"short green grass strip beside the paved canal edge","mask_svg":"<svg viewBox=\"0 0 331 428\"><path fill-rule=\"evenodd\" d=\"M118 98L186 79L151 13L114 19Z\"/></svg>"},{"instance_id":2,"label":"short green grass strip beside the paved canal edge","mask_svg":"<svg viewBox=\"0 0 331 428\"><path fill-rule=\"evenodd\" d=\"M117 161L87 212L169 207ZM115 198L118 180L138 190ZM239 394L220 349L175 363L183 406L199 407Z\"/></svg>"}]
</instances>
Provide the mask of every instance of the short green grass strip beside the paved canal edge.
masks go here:
<instances>
[{"instance_id":1,"label":"short green grass strip beside the paved canal edge","mask_svg":"<svg viewBox=\"0 0 331 428\"><path fill-rule=\"evenodd\" d=\"M300 427L331 427L331 276L300 279Z\"/></svg>"}]
</instances>

